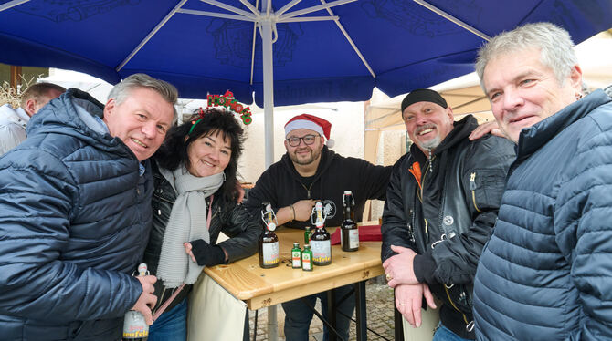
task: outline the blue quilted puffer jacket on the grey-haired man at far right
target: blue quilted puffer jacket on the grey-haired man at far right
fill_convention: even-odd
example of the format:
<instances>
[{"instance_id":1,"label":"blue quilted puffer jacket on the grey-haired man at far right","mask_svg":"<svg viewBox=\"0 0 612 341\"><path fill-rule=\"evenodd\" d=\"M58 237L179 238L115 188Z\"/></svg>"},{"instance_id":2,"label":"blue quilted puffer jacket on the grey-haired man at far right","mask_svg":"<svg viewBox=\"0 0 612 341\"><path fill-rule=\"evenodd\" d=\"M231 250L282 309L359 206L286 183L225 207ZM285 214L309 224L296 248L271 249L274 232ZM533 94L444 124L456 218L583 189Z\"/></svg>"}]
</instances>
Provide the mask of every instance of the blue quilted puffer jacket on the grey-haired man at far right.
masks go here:
<instances>
[{"instance_id":1,"label":"blue quilted puffer jacket on the grey-haired man at far right","mask_svg":"<svg viewBox=\"0 0 612 341\"><path fill-rule=\"evenodd\" d=\"M612 101L522 129L474 283L480 340L612 339Z\"/></svg>"}]
</instances>

